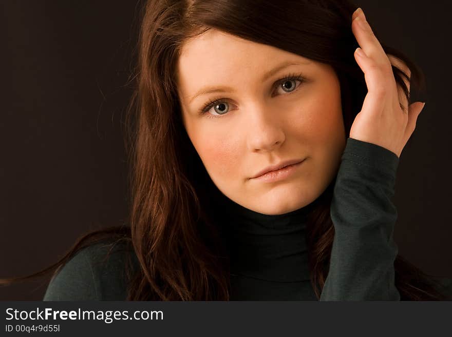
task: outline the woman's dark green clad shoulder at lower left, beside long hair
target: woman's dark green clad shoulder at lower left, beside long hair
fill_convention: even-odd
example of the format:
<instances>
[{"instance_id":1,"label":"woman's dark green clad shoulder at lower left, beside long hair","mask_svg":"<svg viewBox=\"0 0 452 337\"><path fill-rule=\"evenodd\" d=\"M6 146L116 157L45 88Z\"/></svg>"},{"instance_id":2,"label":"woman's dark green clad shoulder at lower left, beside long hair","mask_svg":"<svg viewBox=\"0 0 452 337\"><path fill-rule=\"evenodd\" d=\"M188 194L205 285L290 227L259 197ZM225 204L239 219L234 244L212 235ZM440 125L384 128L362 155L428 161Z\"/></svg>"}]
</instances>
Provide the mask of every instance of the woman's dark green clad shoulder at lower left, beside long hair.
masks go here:
<instances>
[{"instance_id":1,"label":"woman's dark green clad shoulder at lower left, beside long hair","mask_svg":"<svg viewBox=\"0 0 452 337\"><path fill-rule=\"evenodd\" d=\"M133 248L125 243L105 240L84 247L55 272L43 300L124 301L128 259L138 266Z\"/></svg>"}]
</instances>

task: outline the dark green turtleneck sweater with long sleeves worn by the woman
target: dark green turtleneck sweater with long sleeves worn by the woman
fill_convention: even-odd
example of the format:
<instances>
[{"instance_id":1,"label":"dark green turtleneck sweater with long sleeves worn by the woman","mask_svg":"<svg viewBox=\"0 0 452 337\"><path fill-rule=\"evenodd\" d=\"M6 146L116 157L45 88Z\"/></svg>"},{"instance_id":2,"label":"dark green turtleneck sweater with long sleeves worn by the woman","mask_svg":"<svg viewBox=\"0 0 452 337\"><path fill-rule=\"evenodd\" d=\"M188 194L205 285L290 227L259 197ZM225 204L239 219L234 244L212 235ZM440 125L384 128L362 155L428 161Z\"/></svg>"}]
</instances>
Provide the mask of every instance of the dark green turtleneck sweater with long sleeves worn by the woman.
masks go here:
<instances>
[{"instance_id":1,"label":"dark green turtleneck sweater with long sleeves worn by the woman","mask_svg":"<svg viewBox=\"0 0 452 337\"><path fill-rule=\"evenodd\" d=\"M335 233L321 301L400 300L394 285L397 209L391 202L398 164L383 147L347 139L331 202ZM314 204L267 215L226 199L220 228L231 257L231 300L317 300L306 241ZM109 248L96 244L78 252L53 277L44 301L125 300L125 251L117 246L104 261ZM451 296L451 280L437 281Z\"/></svg>"}]
</instances>

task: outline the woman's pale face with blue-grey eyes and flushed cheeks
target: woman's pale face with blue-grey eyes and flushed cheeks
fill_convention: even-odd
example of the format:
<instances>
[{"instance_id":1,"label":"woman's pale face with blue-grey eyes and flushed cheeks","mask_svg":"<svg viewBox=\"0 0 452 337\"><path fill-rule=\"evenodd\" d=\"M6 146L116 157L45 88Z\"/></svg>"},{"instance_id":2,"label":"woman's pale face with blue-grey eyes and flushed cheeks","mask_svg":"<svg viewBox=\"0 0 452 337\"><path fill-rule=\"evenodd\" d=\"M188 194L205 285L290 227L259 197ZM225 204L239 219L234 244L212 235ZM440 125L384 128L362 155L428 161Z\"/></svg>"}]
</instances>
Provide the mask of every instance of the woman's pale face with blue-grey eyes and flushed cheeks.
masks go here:
<instances>
[{"instance_id":1,"label":"woman's pale face with blue-grey eyes and flushed cheeks","mask_svg":"<svg viewBox=\"0 0 452 337\"><path fill-rule=\"evenodd\" d=\"M313 202L334 179L346 136L331 66L211 29L183 46L177 68L185 129L229 199L283 214ZM294 74L305 81L279 81ZM217 102L200 114L210 101ZM304 162L277 181L252 178L288 160Z\"/></svg>"}]
</instances>

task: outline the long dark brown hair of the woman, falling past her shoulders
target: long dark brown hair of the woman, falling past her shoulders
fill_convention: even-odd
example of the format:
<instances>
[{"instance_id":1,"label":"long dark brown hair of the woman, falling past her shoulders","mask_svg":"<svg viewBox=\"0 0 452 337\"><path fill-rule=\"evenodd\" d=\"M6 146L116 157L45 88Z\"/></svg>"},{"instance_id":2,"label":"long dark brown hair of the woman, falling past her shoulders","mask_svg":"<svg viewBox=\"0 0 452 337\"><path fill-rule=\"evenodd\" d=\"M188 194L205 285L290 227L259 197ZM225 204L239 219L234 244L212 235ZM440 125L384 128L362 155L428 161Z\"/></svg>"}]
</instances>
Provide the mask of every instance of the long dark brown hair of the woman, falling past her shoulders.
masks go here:
<instances>
[{"instance_id":1,"label":"long dark brown hair of the woman, falling past her shoulders","mask_svg":"<svg viewBox=\"0 0 452 337\"><path fill-rule=\"evenodd\" d=\"M136 90L126 116L131 195L129 225L82 236L52 266L3 284L45 274L106 237L133 248L139 268L129 282L127 300L229 300L228 256L216 226L219 190L211 181L181 121L176 64L183 44L211 28L267 44L331 65L340 80L347 134L367 93L353 52L356 9L347 0L149 0L143 6ZM382 44L383 45L383 44ZM393 66L410 102L411 89L425 88L422 71L410 59L383 45L407 65ZM318 198L308 225L309 268L317 298L325 284L334 226L332 187ZM445 300L427 274L400 255L394 262L401 300ZM56 269L55 273L58 271Z\"/></svg>"}]
</instances>

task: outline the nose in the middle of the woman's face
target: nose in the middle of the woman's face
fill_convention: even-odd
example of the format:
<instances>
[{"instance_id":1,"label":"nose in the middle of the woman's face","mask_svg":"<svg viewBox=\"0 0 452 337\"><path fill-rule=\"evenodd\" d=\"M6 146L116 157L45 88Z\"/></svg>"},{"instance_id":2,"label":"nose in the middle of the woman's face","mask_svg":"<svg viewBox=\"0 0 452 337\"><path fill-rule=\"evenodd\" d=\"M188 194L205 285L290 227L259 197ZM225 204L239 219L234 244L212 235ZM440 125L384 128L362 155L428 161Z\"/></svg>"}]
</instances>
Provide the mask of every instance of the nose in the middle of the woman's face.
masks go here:
<instances>
[{"instance_id":1,"label":"nose in the middle of the woman's face","mask_svg":"<svg viewBox=\"0 0 452 337\"><path fill-rule=\"evenodd\" d=\"M252 152L274 151L284 143L285 133L277 111L262 106L247 111L248 146Z\"/></svg>"}]
</instances>

